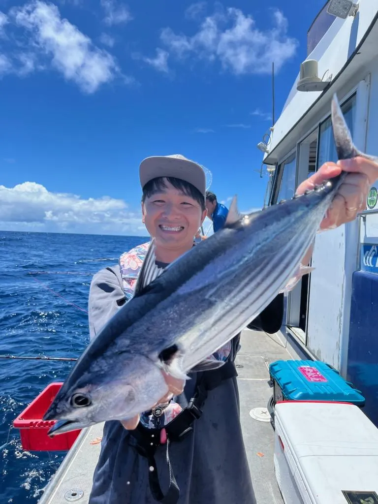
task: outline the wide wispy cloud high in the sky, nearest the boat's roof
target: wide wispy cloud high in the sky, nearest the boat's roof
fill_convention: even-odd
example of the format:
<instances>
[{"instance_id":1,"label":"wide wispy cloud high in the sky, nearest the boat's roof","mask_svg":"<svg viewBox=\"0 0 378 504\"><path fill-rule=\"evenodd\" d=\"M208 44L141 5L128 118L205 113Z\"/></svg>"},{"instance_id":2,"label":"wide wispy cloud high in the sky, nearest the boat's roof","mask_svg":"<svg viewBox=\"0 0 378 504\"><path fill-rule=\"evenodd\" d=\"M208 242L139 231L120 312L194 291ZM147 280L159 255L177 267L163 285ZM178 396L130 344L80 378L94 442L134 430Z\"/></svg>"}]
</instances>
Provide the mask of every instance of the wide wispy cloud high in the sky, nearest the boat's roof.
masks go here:
<instances>
[{"instance_id":1,"label":"wide wispy cloud high in the sky, nearest the boat's roof","mask_svg":"<svg viewBox=\"0 0 378 504\"><path fill-rule=\"evenodd\" d=\"M260 29L250 15L235 8L206 17L192 36L164 28L161 40L178 58L218 60L224 70L236 75L270 73L272 61L279 72L298 45L287 35L287 19L280 11L273 12L271 29Z\"/></svg>"}]
</instances>

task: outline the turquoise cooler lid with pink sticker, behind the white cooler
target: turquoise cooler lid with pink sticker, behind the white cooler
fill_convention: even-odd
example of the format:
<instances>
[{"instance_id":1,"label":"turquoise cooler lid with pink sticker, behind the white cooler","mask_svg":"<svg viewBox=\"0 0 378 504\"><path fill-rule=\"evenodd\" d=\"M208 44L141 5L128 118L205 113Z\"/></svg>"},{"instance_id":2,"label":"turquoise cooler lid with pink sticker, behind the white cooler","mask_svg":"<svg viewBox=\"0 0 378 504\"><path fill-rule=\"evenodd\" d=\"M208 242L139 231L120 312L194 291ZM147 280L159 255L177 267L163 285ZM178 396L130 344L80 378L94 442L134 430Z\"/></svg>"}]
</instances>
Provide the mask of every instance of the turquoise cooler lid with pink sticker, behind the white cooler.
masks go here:
<instances>
[{"instance_id":1,"label":"turquoise cooler lid with pink sticker, behind the white cooler","mask_svg":"<svg viewBox=\"0 0 378 504\"><path fill-rule=\"evenodd\" d=\"M365 398L336 369L312 360L277 360L269 366L273 405L279 401L340 401L363 406Z\"/></svg>"}]
</instances>

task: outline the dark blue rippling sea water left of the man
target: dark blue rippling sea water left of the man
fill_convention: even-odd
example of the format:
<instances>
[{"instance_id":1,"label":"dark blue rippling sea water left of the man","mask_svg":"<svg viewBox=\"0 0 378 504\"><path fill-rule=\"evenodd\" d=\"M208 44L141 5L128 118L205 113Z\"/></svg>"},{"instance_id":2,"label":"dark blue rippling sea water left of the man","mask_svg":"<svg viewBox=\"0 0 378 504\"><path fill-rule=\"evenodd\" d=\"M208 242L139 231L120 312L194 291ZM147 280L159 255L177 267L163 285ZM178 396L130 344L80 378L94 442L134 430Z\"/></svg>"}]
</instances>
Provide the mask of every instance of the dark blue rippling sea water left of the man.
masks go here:
<instances>
[{"instance_id":1,"label":"dark blue rippling sea water left of the man","mask_svg":"<svg viewBox=\"0 0 378 504\"><path fill-rule=\"evenodd\" d=\"M0 231L0 354L79 357L89 341L91 276L145 241L146 237ZM49 383L64 381L72 366L73 362L0 358L1 504L37 502L66 455L23 451L12 421Z\"/></svg>"}]
</instances>

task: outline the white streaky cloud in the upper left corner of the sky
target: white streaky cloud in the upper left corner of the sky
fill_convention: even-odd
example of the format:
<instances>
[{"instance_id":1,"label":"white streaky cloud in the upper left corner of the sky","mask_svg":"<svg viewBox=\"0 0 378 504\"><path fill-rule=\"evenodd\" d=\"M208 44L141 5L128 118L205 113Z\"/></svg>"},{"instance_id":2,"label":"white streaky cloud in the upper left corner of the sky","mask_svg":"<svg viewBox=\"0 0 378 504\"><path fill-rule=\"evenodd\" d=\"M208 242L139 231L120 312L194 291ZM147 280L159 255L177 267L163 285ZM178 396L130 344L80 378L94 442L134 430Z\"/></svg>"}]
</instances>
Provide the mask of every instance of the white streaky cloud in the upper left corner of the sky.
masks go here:
<instances>
[{"instance_id":1,"label":"white streaky cloud in the upper left corner of the sky","mask_svg":"<svg viewBox=\"0 0 378 504\"><path fill-rule=\"evenodd\" d=\"M22 7L13 7L8 16L0 13L0 35L4 26L11 36L3 33L9 50L0 54L0 77L25 77L52 68L85 93L94 93L115 78L125 84L134 82L132 77L121 74L108 51L94 45L87 35L61 18L53 4L32 0ZM107 42L111 45L110 37Z\"/></svg>"}]
</instances>

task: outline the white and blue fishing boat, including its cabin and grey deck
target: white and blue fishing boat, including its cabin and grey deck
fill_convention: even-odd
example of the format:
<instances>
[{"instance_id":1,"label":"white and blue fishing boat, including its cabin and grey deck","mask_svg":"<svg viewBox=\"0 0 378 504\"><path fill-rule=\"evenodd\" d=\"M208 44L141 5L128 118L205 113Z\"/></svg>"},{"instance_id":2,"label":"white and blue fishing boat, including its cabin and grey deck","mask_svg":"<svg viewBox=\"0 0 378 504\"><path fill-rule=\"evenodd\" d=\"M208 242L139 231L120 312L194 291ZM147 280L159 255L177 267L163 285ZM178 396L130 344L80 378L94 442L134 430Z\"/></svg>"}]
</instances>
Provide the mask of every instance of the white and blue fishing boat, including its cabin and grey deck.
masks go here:
<instances>
[{"instance_id":1,"label":"white and blue fishing boat, including its cabin and grey deck","mask_svg":"<svg viewBox=\"0 0 378 504\"><path fill-rule=\"evenodd\" d=\"M314 19L307 33L307 58L269 140L259 144L269 175L266 205L291 198L296 186L324 161L336 161L330 121L333 93L357 148L378 154L377 45L376 0L329 0ZM367 210L354 222L317 234L314 270L285 294L281 331L242 333L236 358L241 424L259 504L283 502L274 466L275 430L267 407L273 395L273 362L304 359L333 366L362 392L364 413L378 426L377 214L374 185ZM102 428L94 425L79 433L39 504L88 502Z\"/></svg>"}]
</instances>

